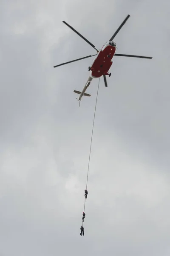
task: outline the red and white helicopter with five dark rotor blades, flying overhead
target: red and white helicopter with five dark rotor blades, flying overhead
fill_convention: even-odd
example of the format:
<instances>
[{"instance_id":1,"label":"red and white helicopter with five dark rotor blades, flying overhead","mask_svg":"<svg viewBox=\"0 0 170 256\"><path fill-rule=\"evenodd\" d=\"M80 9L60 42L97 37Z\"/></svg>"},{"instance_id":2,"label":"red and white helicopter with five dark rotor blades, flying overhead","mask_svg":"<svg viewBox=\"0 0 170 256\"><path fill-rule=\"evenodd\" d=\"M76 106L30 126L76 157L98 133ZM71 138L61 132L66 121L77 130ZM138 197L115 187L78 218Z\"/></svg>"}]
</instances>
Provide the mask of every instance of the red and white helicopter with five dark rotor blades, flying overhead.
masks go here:
<instances>
[{"instance_id":1,"label":"red and white helicopter with five dark rotor blades, flying overhead","mask_svg":"<svg viewBox=\"0 0 170 256\"><path fill-rule=\"evenodd\" d=\"M59 66L62 66L62 65L74 62L74 61L79 61L79 60L82 60L82 59L85 59L85 58L90 58L90 57L96 55L94 61L91 64L91 67L88 67L88 70L90 71L90 76L89 76L88 81L86 82L85 87L83 88L82 92L74 90L74 93L80 94L79 99L78 99L79 101L81 101L83 95L84 96L91 96L90 94L85 93L85 91L87 90L87 88L90 85L93 78L99 78L100 76L103 76L105 86L106 87L108 86L107 81L106 81L106 76L107 75L109 77L111 76L111 73L109 73L109 69L110 69L110 67L113 63L113 61L112 61L113 56L125 56L125 57L136 57L136 58L152 59L152 57L146 57L146 56L127 55L127 54L115 53L117 47L116 47L116 44L113 42L113 38L117 35L119 30L122 28L122 26L125 24L125 22L127 21L127 19L129 17L130 17L130 15L127 15L127 17L122 22L122 24L119 26L119 28L116 30L114 35L110 38L110 40L108 42L106 42L102 46L102 49L100 49L100 50L96 49L95 46L93 44L91 44L91 42L89 42L85 37L83 37L81 34L79 34L79 32L77 32L73 27L68 25L68 23L66 23L65 21L62 21L63 23L65 23L65 25L67 25L70 29L72 29L74 32L76 32L77 35L79 35L81 38L83 38L88 44L90 44L97 51L97 54L88 55L88 56L83 57L83 58L78 58L76 60L68 61L68 62L59 64L57 66L54 66L54 67L59 67Z\"/></svg>"}]
</instances>

